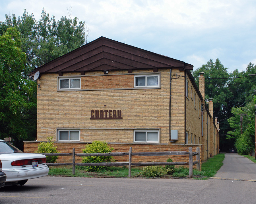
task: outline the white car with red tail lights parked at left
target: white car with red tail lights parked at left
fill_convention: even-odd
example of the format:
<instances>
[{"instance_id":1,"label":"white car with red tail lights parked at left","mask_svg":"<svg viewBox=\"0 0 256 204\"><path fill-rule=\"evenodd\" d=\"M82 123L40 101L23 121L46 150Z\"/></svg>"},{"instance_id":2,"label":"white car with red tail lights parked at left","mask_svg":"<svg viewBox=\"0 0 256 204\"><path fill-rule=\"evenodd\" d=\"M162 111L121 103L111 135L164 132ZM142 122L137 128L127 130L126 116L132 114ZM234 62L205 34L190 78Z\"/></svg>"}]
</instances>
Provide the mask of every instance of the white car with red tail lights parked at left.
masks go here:
<instances>
[{"instance_id":1,"label":"white car with red tail lights parked at left","mask_svg":"<svg viewBox=\"0 0 256 204\"><path fill-rule=\"evenodd\" d=\"M47 176L46 156L24 153L10 143L0 140L0 160L6 174L5 185L24 185L28 179Z\"/></svg>"}]
</instances>

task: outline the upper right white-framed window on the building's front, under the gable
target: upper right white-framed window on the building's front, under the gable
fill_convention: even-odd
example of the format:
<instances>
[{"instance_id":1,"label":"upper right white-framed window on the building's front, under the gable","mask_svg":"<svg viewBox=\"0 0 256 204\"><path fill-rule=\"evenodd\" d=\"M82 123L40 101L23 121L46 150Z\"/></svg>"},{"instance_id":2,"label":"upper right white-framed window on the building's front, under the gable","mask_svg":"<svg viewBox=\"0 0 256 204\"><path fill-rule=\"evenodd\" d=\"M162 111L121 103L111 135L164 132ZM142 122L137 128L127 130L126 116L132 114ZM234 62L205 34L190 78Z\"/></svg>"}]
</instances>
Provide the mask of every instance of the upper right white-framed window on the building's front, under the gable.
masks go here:
<instances>
[{"instance_id":1,"label":"upper right white-framed window on the building's front, under the gable","mask_svg":"<svg viewBox=\"0 0 256 204\"><path fill-rule=\"evenodd\" d=\"M134 87L159 87L159 75L134 75Z\"/></svg>"}]
</instances>

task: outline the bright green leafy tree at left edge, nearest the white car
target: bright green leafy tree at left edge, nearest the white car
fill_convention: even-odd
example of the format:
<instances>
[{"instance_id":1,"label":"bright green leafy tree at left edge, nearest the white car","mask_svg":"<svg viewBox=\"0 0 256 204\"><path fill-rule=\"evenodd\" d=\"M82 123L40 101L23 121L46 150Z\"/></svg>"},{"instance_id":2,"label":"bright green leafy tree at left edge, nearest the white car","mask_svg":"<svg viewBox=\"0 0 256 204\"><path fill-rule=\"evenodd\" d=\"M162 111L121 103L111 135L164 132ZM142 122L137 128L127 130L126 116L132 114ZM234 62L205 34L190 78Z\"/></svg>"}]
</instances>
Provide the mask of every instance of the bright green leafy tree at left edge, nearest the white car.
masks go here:
<instances>
[{"instance_id":1,"label":"bright green leafy tree at left edge, nearest the white car","mask_svg":"<svg viewBox=\"0 0 256 204\"><path fill-rule=\"evenodd\" d=\"M10 27L0 35L0 138L12 137L21 149L20 141L28 137L27 112L36 107L36 83L24 76L25 64L20 33Z\"/></svg>"}]
</instances>

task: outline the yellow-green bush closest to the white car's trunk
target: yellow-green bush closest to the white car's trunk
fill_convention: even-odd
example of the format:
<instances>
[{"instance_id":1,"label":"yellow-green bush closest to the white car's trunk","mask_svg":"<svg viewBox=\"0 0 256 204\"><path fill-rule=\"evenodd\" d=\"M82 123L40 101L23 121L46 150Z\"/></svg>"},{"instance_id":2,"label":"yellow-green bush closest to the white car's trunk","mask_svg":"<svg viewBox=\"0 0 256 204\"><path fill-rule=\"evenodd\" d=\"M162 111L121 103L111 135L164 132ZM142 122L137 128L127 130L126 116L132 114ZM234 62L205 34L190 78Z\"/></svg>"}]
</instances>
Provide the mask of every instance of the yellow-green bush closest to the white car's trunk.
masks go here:
<instances>
[{"instance_id":1,"label":"yellow-green bush closest to the white car's trunk","mask_svg":"<svg viewBox=\"0 0 256 204\"><path fill-rule=\"evenodd\" d=\"M41 142L38 144L36 153L59 153L57 147L53 146L53 137L47 137L48 142ZM58 156L46 156L46 163L56 162Z\"/></svg>"}]
</instances>

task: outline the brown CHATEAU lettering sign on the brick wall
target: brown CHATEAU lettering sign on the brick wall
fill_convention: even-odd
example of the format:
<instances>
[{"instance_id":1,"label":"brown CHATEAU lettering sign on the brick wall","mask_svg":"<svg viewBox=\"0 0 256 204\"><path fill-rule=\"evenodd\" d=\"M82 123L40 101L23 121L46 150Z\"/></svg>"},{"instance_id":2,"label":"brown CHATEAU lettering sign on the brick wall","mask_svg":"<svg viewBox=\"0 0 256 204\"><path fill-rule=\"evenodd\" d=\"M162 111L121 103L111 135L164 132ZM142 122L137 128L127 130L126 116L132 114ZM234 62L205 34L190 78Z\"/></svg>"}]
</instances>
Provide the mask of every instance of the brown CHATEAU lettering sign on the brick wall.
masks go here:
<instances>
[{"instance_id":1,"label":"brown CHATEAU lettering sign on the brick wall","mask_svg":"<svg viewBox=\"0 0 256 204\"><path fill-rule=\"evenodd\" d=\"M100 119L123 119L121 116L121 110L92 110L91 111L91 120L100 120Z\"/></svg>"}]
</instances>

